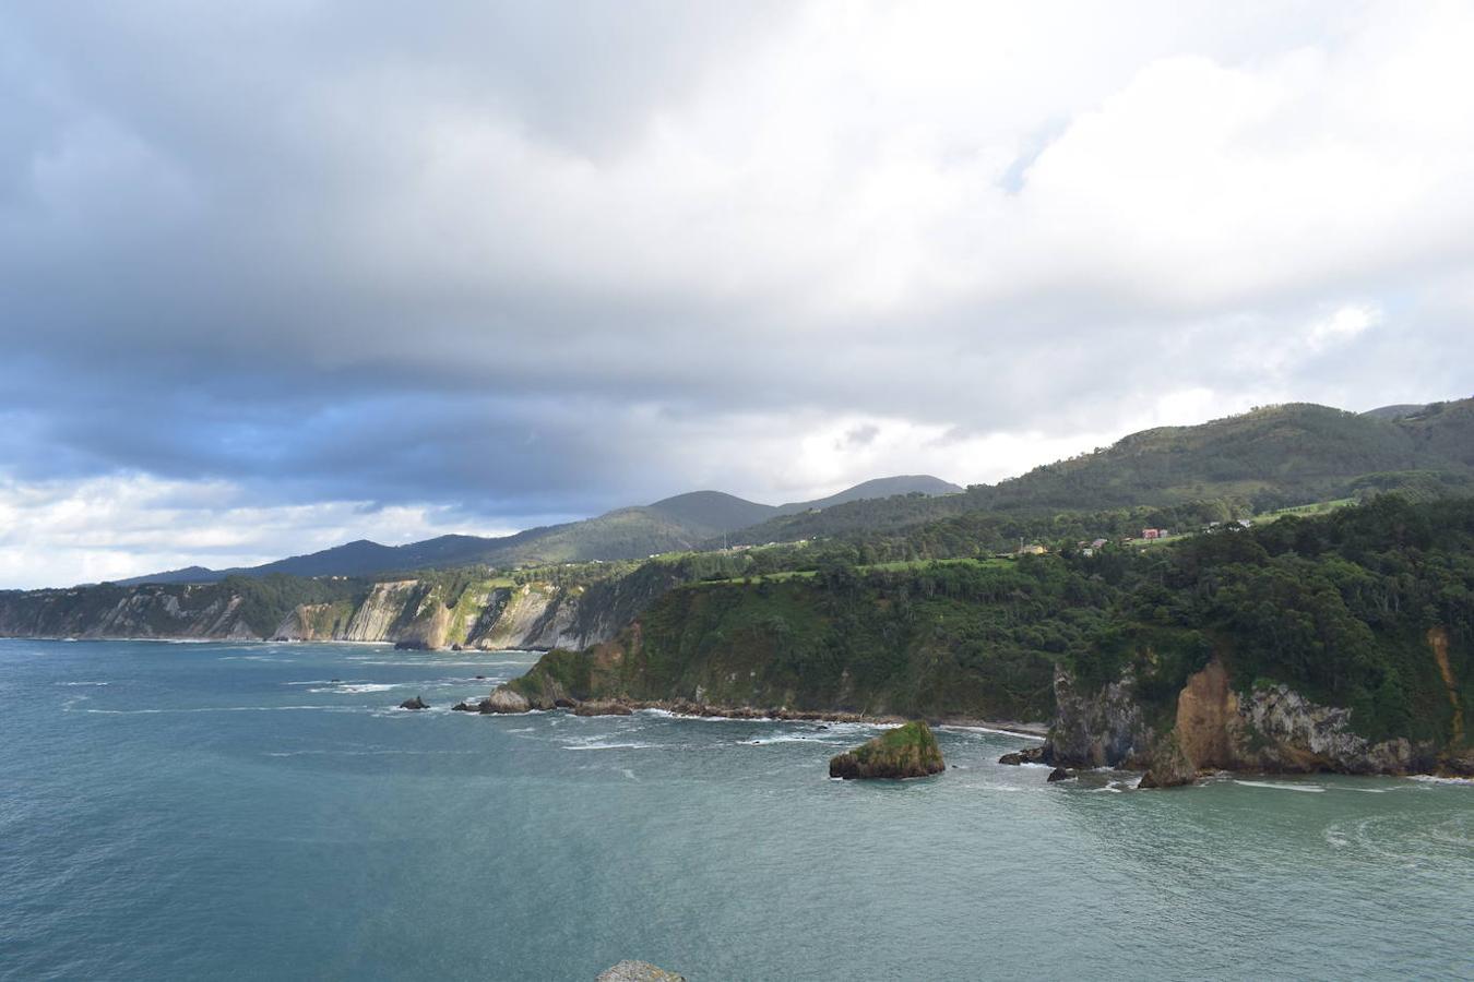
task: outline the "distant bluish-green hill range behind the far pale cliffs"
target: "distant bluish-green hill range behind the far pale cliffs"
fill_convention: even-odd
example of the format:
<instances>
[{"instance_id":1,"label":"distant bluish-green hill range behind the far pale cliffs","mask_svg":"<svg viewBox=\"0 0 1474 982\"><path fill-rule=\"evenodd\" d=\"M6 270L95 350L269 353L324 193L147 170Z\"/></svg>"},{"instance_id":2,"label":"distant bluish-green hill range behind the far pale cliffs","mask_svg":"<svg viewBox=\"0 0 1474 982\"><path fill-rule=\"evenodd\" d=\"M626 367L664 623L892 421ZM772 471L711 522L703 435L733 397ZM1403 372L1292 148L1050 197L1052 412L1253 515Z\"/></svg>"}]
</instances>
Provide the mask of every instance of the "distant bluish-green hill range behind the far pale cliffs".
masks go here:
<instances>
[{"instance_id":1,"label":"distant bluish-green hill range behind the far pale cliffs","mask_svg":"<svg viewBox=\"0 0 1474 982\"><path fill-rule=\"evenodd\" d=\"M899 490L896 490L899 489ZM122 580L140 583L209 583L227 576L370 576L377 573L447 568L483 562L514 567L590 559L640 559L656 552L700 548L705 542L765 521L786 509L808 511L871 495L946 493L958 490L936 477L907 476L865 481L812 502L761 505L715 490L677 495L637 508L618 508L582 521L528 529L495 539L438 536L402 546L360 539L321 552L289 557L256 567L206 570L189 567Z\"/></svg>"}]
</instances>

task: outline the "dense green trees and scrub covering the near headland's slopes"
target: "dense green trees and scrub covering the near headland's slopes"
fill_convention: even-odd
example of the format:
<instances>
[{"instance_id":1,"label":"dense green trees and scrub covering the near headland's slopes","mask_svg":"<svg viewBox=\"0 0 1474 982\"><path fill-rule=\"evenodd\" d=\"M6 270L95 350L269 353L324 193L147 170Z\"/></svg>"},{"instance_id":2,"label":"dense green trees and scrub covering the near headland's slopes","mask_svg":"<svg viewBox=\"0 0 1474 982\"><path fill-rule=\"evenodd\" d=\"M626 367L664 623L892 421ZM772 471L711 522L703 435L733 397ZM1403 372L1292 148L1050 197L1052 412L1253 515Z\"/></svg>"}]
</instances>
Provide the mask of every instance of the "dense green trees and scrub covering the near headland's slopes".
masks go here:
<instances>
[{"instance_id":1,"label":"dense green trees and scrub covering the near headland's slopes","mask_svg":"<svg viewBox=\"0 0 1474 982\"><path fill-rule=\"evenodd\" d=\"M1430 645L1437 629L1439 651ZM1383 496L1150 548L1010 561L827 561L691 583L615 640L554 652L534 695L1048 720L1058 667L1129 676L1145 721L1218 655L1232 686L1350 710L1361 736L1456 743L1474 718L1474 502Z\"/></svg>"}]
</instances>

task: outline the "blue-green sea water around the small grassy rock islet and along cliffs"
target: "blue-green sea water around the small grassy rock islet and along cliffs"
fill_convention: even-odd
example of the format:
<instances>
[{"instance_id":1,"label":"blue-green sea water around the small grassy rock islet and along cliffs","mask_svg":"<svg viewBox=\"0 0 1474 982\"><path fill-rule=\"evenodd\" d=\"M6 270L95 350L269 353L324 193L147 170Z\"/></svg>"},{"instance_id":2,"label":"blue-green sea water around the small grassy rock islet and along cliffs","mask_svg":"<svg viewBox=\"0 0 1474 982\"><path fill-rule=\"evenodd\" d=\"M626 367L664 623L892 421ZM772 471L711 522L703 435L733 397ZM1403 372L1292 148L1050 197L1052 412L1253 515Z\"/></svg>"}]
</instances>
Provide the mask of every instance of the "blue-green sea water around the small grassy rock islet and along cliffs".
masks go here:
<instances>
[{"instance_id":1,"label":"blue-green sea water around the small grassy rock islet and along cliffs","mask_svg":"<svg viewBox=\"0 0 1474 982\"><path fill-rule=\"evenodd\" d=\"M1474 978L1474 786L1047 785L952 729L843 783L867 727L447 710L531 661L0 640L0 975Z\"/></svg>"}]
</instances>

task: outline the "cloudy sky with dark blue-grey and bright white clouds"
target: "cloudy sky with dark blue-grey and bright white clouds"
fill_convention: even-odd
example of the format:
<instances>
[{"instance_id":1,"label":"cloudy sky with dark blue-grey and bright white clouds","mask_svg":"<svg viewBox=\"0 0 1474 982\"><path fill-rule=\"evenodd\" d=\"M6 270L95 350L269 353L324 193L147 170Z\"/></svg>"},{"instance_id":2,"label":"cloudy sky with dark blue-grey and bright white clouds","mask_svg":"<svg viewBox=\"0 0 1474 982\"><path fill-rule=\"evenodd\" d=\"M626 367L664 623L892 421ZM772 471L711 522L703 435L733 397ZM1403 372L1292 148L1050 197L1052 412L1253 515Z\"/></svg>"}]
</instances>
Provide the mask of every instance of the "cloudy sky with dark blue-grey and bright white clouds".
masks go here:
<instances>
[{"instance_id":1,"label":"cloudy sky with dark blue-grey and bright white clouds","mask_svg":"<svg viewBox=\"0 0 1474 982\"><path fill-rule=\"evenodd\" d=\"M0 7L0 587L1474 393L1474 4Z\"/></svg>"}]
</instances>

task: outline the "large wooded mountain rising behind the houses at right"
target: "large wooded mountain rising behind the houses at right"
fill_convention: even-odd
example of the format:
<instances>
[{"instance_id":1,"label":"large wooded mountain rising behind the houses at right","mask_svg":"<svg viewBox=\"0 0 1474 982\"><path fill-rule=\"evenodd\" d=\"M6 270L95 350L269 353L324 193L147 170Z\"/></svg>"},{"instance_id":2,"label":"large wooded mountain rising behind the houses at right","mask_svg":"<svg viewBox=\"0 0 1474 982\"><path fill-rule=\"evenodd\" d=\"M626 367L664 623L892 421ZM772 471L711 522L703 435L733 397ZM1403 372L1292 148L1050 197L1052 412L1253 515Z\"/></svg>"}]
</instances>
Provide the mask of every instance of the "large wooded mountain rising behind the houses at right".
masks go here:
<instances>
[{"instance_id":1,"label":"large wooded mountain rising behind the houses at right","mask_svg":"<svg viewBox=\"0 0 1474 982\"><path fill-rule=\"evenodd\" d=\"M961 495L846 502L743 529L736 542L880 531L971 511L1072 511L1228 499L1259 511L1403 490L1474 490L1474 399L1355 414L1266 406L1201 425L1159 427L1092 453Z\"/></svg>"}]
</instances>

